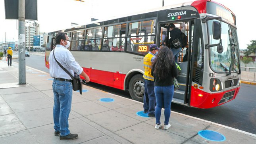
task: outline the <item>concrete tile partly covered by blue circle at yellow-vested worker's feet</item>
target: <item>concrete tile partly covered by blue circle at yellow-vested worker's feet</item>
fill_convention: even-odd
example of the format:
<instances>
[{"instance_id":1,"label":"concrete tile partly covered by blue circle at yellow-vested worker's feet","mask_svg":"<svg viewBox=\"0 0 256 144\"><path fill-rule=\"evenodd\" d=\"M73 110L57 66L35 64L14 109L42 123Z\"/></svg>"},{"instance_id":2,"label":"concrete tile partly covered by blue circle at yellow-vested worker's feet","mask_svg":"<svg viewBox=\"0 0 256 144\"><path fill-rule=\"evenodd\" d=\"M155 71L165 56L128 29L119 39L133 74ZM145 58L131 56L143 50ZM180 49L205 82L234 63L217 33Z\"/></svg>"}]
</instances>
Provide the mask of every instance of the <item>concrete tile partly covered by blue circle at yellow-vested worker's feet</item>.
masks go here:
<instances>
[{"instance_id":1,"label":"concrete tile partly covered by blue circle at yellow-vested worker's feet","mask_svg":"<svg viewBox=\"0 0 256 144\"><path fill-rule=\"evenodd\" d=\"M139 103L131 105L131 106L126 106L123 108L114 109L114 110L118 111L119 113L128 115L129 117L132 117L139 121L148 121L149 119L154 119L152 117L140 117L139 115L136 114L138 111L143 111L143 104L139 104Z\"/></svg>"}]
</instances>

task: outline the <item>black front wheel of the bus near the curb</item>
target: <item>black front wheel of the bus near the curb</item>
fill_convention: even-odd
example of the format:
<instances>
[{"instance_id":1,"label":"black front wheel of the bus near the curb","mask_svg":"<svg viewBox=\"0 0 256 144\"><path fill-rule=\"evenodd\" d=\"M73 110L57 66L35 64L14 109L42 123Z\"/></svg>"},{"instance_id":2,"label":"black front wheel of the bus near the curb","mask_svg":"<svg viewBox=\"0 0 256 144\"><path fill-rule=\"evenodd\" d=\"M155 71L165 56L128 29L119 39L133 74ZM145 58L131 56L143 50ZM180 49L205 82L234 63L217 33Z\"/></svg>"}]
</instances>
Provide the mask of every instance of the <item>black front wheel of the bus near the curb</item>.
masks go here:
<instances>
[{"instance_id":1,"label":"black front wheel of the bus near the curb","mask_svg":"<svg viewBox=\"0 0 256 144\"><path fill-rule=\"evenodd\" d=\"M134 75L129 83L129 93L133 100L143 102L144 79L141 74Z\"/></svg>"}]
</instances>

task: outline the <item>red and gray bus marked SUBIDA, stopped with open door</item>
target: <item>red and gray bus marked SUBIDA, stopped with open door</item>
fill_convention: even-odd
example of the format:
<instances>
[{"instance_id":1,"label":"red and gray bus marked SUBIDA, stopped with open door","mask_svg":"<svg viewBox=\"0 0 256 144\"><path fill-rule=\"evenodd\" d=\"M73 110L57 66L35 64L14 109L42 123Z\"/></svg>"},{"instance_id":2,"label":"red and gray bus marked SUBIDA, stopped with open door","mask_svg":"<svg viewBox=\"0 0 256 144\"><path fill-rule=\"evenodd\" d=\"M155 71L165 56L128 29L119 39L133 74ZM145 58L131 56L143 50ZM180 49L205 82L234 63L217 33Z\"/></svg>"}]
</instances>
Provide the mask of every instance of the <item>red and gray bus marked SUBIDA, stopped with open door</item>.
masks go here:
<instances>
[{"instance_id":1,"label":"red and gray bus marked SUBIDA, stopped with open door","mask_svg":"<svg viewBox=\"0 0 256 144\"><path fill-rule=\"evenodd\" d=\"M187 37L187 46L179 55L180 88L172 102L213 108L235 99L241 84L236 17L211 0L164 6L50 32L45 65L49 68L48 56L56 33L65 32L71 40L68 49L91 82L128 90L132 99L143 101L143 57L150 44L168 42L170 23ZM167 38L163 40L162 35Z\"/></svg>"}]
</instances>

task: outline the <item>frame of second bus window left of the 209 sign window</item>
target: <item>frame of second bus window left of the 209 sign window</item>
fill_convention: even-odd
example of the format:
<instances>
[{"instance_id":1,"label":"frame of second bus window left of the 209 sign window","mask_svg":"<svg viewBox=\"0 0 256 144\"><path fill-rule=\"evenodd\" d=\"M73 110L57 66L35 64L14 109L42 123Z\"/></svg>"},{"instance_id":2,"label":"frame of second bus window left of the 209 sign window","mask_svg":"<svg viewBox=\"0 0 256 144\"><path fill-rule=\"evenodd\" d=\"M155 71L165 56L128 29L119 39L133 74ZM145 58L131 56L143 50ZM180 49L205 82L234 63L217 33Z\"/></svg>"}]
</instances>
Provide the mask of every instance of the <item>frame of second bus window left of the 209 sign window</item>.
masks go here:
<instances>
[{"instance_id":1,"label":"frame of second bus window left of the 209 sign window","mask_svg":"<svg viewBox=\"0 0 256 144\"><path fill-rule=\"evenodd\" d=\"M100 28L100 30L101 31L97 31L97 29L99 29ZM87 36L88 36L88 31L89 30L92 30L93 32L92 32L92 38L88 38ZM102 48L102 46L101 46L101 43L102 43L102 30L103 30L103 27L101 26L101 27L93 27L93 28L90 28L90 29L86 29L85 30L85 33L86 33L86 35L85 35L85 45L84 46L86 46L87 44L86 44L86 42L88 41L88 40L90 40L91 41L91 44L92 44L92 41L95 43L95 41L96 40L100 40L100 42L99 42L99 44L97 43L97 45L92 45L92 50L85 50L85 48L84 48L84 51L87 51L87 52L92 52L92 51L101 51L101 48ZM95 31L95 33L94 33L94 31ZM99 33L99 32L101 32L101 35L100 36L96 36L97 35L97 33ZM94 35L94 34L95 35ZM98 46L98 48L99 48L99 50L94 50L94 46Z\"/></svg>"}]
</instances>

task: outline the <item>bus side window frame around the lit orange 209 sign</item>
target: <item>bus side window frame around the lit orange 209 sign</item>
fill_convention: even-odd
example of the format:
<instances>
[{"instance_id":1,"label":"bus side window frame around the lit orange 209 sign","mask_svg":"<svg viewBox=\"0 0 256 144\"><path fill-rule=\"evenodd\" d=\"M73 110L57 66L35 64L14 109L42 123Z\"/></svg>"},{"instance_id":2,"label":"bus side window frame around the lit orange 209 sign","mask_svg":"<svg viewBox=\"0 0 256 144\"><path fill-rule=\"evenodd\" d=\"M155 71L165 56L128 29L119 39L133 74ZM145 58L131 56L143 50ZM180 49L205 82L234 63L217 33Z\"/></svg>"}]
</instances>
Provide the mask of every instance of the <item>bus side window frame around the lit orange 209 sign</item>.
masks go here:
<instances>
[{"instance_id":1,"label":"bus side window frame around the lit orange 209 sign","mask_svg":"<svg viewBox=\"0 0 256 144\"><path fill-rule=\"evenodd\" d=\"M141 35L141 27L143 26L143 22L145 22L145 21L153 21L154 23L154 25L152 24L152 34L153 35ZM133 26L132 26L132 23L138 23L138 27L139 27L139 25L140 25L140 28L137 28L137 29L139 29L139 31L140 31L140 33L139 33L139 35L135 35L135 36L131 36L131 30L130 30L130 27L132 28ZM156 25L156 23L157 23L157 18L154 18L154 19L152 19L152 18L148 18L148 19L142 19L142 20L136 20L136 21L129 21L128 22L128 35L127 35L127 37L126 37L126 48L125 48L125 52L127 52L127 53L131 53L131 54L136 54L136 55L139 55L139 56L145 56L148 52L149 52L149 46L150 46L150 44L152 43L152 44L154 44L155 43L155 41L156 41L156 29L157 29L157 25ZM130 26L130 24L131 24L131 26ZM137 26L137 24L135 25L135 27ZM154 29L154 30L153 30ZM145 33L147 32L147 30L145 31ZM144 50L144 46L142 46L141 48L139 48L139 49L141 49L141 50L143 50L144 52L142 52L142 53L139 53L139 52L135 52L134 51L134 48L133 48L133 50L132 51L128 51L128 41L131 41L130 40L130 38L139 38L139 37L142 37L142 38L145 38L145 37L148 37L148 36L153 36L153 38L150 38L150 40L152 40L153 39L153 42L150 42L150 44L147 44L147 45L144 45L144 46L147 46L147 50L145 51ZM142 39L141 38L141 39ZM129 39L129 40L128 40ZM130 42L131 43L131 42ZM135 43L137 43L137 42L135 42ZM132 48L131 46L130 46L130 48ZM138 49L138 50L139 50Z\"/></svg>"}]
</instances>

